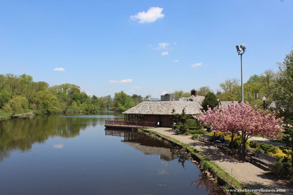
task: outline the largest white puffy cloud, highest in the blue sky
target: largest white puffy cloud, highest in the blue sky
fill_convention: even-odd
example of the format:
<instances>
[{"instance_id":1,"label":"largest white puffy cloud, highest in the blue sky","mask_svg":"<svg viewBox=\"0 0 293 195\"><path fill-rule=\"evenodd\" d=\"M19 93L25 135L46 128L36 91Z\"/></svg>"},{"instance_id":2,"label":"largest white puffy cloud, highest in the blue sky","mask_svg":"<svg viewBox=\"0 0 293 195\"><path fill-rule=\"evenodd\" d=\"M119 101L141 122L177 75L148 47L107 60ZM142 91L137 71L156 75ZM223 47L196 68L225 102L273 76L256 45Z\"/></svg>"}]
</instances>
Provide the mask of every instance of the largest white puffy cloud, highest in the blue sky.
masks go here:
<instances>
[{"instance_id":1,"label":"largest white puffy cloud, highest in the blue sky","mask_svg":"<svg viewBox=\"0 0 293 195\"><path fill-rule=\"evenodd\" d=\"M139 23L154 22L159 18L163 18L165 15L162 14L163 8L151 7L146 12L142 11L134 16L130 16L132 20L139 20Z\"/></svg>"}]
</instances>

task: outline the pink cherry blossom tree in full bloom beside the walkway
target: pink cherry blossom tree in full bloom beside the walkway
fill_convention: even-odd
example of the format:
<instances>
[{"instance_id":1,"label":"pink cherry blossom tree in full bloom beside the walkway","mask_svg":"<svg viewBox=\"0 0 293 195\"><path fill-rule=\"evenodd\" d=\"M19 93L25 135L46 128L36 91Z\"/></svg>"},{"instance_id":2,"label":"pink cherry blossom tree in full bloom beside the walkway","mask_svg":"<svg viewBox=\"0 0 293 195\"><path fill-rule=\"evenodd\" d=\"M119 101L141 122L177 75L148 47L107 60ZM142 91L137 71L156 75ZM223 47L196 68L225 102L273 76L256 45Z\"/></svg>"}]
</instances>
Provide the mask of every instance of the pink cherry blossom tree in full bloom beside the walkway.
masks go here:
<instances>
[{"instance_id":1,"label":"pink cherry blossom tree in full bloom beside the walkway","mask_svg":"<svg viewBox=\"0 0 293 195\"><path fill-rule=\"evenodd\" d=\"M255 135L265 135L275 138L277 133L282 132L283 118L276 118L276 113L265 113L251 107L249 102L230 103L221 110L209 109L197 117L204 124L209 124L214 131L226 132L233 137L238 134L242 138L239 148L240 154L246 154L246 141Z\"/></svg>"}]
</instances>

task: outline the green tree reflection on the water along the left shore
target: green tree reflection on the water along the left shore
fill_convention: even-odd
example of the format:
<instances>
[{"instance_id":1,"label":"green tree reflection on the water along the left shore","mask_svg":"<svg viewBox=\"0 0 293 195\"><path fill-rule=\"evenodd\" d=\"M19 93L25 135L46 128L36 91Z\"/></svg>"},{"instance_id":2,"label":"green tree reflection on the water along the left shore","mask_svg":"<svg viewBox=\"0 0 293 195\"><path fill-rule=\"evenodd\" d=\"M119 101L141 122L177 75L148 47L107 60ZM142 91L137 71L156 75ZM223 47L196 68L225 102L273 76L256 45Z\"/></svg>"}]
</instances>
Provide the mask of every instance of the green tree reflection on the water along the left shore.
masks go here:
<instances>
[{"instance_id":1,"label":"green tree reflection on the water along the left shore","mask_svg":"<svg viewBox=\"0 0 293 195\"><path fill-rule=\"evenodd\" d=\"M87 126L95 127L105 118L95 117L35 117L0 121L0 161L10 151L28 151L34 143L44 143L49 137L76 137Z\"/></svg>"}]
</instances>

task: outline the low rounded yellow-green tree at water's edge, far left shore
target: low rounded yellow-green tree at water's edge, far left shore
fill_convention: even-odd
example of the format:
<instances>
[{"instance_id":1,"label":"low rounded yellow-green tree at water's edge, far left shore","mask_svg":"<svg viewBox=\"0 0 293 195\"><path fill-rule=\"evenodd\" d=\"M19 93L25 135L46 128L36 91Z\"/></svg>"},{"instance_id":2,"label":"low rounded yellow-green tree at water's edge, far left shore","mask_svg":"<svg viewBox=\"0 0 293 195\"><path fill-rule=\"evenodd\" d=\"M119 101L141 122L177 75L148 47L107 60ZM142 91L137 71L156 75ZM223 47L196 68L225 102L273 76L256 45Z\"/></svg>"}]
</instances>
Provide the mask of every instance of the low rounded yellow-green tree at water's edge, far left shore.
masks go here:
<instances>
[{"instance_id":1,"label":"low rounded yellow-green tree at water's edge, far left shore","mask_svg":"<svg viewBox=\"0 0 293 195\"><path fill-rule=\"evenodd\" d=\"M28 110L28 101L25 97L15 96L5 104L3 109L11 115L25 113Z\"/></svg>"}]
</instances>

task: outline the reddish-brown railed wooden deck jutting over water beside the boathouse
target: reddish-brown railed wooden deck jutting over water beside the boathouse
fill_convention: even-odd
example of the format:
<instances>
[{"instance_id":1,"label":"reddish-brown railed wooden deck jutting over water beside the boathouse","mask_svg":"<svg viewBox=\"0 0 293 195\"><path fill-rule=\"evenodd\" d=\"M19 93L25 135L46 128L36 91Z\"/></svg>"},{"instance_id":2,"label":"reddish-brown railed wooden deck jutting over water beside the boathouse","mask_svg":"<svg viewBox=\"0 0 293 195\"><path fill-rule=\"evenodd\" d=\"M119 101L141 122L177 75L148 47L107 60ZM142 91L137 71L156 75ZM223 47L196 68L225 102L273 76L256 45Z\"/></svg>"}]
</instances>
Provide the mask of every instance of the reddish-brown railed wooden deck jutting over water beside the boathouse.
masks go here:
<instances>
[{"instance_id":1,"label":"reddish-brown railed wooden deck jutting over water beside the boathouse","mask_svg":"<svg viewBox=\"0 0 293 195\"><path fill-rule=\"evenodd\" d=\"M105 120L105 127L126 128L126 129L155 128L155 122Z\"/></svg>"}]
</instances>

